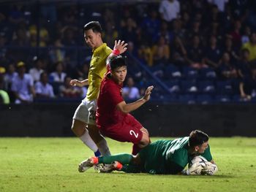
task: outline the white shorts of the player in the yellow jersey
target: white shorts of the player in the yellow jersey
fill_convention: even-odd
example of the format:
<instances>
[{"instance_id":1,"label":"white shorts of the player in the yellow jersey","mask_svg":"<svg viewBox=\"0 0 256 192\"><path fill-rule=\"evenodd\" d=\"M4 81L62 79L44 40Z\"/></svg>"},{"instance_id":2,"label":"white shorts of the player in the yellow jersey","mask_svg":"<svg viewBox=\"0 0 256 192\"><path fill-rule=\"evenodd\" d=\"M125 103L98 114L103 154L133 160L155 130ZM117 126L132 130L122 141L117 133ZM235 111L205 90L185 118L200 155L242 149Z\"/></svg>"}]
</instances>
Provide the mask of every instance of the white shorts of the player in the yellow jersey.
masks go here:
<instances>
[{"instance_id":1,"label":"white shorts of the player in the yellow jersey","mask_svg":"<svg viewBox=\"0 0 256 192\"><path fill-rule=\"evenodd\" d=\"M80 120L89 125L96 125L97 101L83 99L78 108L75 110L73 119Z\"/></svg>"}]
</instances>

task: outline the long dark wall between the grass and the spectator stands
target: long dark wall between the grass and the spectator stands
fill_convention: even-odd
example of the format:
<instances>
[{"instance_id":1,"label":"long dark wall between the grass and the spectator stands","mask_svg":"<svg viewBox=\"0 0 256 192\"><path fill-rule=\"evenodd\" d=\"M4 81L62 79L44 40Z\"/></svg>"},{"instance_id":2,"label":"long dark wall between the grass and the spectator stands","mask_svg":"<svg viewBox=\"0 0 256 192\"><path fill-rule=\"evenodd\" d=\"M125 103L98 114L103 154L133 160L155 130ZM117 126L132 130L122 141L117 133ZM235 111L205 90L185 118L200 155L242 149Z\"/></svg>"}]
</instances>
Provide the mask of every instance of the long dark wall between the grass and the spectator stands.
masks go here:
<instances>
[{"instance_id":1,"label":"long dark wall between the grass and the spectator stands","mask_svg":"<svg viewBox=\"0 0 256 192\"><path fill-rule=\"evenodd\" d=\"M2 105L0 137L70 137L78 104ZM132 113L151 137L179 137L200 129L211 137L256 137L254 104L154 104Z\"/></svg>"}]
</instances>

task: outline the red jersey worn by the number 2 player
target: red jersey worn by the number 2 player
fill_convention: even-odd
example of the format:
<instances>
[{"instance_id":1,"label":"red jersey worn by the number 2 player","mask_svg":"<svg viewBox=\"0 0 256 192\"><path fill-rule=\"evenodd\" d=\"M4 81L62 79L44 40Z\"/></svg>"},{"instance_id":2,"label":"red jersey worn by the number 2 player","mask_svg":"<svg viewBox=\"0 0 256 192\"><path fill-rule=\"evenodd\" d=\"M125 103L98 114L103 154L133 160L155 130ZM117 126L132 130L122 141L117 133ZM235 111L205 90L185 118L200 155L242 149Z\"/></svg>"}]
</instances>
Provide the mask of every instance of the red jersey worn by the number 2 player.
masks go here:
<instances>
[{"instance_id":1,"label":"red jersey worn by the number 2 player","mask_svg":"<svg viewBox=\"0 0 256 192\"><path fill-rule=\"evenodd\" d=\"M116 109L116 105L124 101L121 90L123 84L118 85L110 77L110 72L105 75L100 85L97 100L96 122L98 128L106 128L120 123L127 116L126 113Z\"/></svg>"}]
</instances>

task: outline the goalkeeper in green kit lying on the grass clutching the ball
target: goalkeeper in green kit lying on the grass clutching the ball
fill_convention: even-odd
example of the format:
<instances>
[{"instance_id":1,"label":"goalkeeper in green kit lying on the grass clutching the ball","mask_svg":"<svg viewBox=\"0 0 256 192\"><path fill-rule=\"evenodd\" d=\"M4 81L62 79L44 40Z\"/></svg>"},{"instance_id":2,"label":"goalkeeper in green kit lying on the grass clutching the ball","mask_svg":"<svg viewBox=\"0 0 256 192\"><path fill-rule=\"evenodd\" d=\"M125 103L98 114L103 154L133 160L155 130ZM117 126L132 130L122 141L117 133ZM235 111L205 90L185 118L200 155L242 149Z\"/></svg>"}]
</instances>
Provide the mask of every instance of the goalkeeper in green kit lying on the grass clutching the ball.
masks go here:
<instances>
[{"instance_id":1,"label":"goalkeeper in green kit lying on the grass clutching the ball","mask_svg":"<svg viewBox=\"0 0 256 192\"><path fill-rule=\"evenodd\" d=\"M197 162L189 169L195 156L201 155L207 162ZM118 155L91 157L83 161L79 172L85 172L95 164L110 164L102 172L118 170L127 173L146 172L151 174L214 174L217 166L214 164L208 145L208 135L195 130L189 137L174 140L158 140L144 147L137 155L121 153Z\"/></svg>"}]
</instances>

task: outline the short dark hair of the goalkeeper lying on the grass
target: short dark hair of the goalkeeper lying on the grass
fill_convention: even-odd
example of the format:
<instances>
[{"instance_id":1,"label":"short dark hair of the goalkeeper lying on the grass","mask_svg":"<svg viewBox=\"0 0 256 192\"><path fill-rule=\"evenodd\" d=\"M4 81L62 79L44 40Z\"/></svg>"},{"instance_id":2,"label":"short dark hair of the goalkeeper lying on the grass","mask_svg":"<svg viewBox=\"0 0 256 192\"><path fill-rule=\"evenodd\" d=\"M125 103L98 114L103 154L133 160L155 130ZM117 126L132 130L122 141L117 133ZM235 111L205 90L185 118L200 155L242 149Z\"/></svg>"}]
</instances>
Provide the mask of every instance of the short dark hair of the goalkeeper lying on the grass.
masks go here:
<instances>
[{"instance_id":1,"label":"short dark hair of the goalkeeper lying on the grass","mask_svg":"<svg viewBox=\"0 0 256 192\"><path fill-rule=\"evenodd\" d=\"M202 145L204 142L208 142L208 135L200 130L191 131L189 134L189 147L195 147Z\"/></svg>"}]
</instances>

